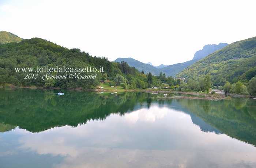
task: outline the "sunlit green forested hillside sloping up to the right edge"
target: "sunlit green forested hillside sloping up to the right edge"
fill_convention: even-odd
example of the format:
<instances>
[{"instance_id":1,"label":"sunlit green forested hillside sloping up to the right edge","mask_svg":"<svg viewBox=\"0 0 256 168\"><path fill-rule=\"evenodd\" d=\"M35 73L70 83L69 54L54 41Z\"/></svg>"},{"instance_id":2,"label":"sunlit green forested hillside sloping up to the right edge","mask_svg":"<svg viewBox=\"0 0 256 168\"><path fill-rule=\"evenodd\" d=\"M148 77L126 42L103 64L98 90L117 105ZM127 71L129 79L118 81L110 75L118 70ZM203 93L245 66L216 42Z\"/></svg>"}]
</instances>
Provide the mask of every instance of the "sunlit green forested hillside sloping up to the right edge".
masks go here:
<instances>
[{"instance_id":1,"label":"sunlit green forested hillside sloping up to the right edge","mask_svg":"<svg viewBox=\"0 0 256 168\"><path fill-rule=\"evenodd\" d=\"M215 51L195 64L188 66L176 75L199 79L210 73L214 83L222 77L231 83L238 80L250 80L256 75L256 37L231 43Z\"/></svg>"}]
</instances>

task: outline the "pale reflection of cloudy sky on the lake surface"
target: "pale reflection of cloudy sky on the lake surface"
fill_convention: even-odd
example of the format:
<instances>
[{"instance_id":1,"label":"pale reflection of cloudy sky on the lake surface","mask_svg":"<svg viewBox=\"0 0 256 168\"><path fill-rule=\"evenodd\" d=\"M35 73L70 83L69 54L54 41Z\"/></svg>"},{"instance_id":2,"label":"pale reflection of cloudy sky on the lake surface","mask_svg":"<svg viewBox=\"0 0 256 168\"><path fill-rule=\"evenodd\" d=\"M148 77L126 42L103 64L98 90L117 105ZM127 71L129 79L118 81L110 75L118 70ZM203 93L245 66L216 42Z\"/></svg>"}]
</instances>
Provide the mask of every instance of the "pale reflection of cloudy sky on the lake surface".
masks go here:
<instances>
[{"instance_id":1,"label":"pale reflection of cloudy sky on the lake surface","mask_svg":"<svg viewBox=\"0 0 256 168\"><path fill-rule=\"evenodd\" d=\"M256 165L256 148L251 145L225 134L203 132L193 126L188 114L155 105L151 107L154 120L147 117L148 109L142 108L135 111L135 119L133 112L123 117L111 114L105 121L89 121L77 127L55 127L37 134L15 129L13 134L19 135L19 150L63 158L52 167Z\"/></svg>"}]
</instances>

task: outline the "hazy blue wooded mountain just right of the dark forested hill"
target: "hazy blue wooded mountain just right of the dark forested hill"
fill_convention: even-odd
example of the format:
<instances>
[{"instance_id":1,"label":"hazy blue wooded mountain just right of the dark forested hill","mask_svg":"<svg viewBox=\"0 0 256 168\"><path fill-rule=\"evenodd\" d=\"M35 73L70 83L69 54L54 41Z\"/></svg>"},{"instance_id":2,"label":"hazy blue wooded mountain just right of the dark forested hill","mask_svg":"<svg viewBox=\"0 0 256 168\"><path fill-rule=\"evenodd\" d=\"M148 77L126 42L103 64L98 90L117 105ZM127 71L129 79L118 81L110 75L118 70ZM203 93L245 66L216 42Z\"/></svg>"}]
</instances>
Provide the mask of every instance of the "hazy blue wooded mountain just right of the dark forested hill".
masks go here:
<instances>
[{"instance_id":1,"label":"hazy blue wooded mountain just right of the dark forested hill","mask_svg":"<svg viewBox=\"0 0 256 168\"><path fill-rule=\"evenodd\" d=\"M166 76L169 76L168 73L163 72L152 65L144 64L143 62L137 61L133 58L117 58L116 60L114 60L112 62L121 62L121 61L127 62L129 64L129 66L134 66L140 72L144 71L145 74L151 72L152 75L159 76L160 72L162 72L162 73L165 73Z\"/></svg>"}]
</instances>

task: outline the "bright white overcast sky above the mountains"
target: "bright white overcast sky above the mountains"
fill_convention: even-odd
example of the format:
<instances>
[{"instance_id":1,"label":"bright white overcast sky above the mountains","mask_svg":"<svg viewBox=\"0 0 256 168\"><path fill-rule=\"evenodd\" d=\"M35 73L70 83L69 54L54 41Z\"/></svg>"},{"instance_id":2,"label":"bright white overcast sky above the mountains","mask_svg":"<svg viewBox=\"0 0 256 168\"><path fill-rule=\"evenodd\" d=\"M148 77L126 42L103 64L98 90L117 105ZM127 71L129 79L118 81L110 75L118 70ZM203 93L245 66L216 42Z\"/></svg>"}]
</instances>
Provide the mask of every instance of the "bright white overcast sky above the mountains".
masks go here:
<instances>
[{"instance_id":1,"label":"bright white overcast sky above the mountains","mask_svg":"<svg viewBox=\"0 0 256 168\"><path fill-rule=\"evenodd\" d=\"M253 0L0 0L0 31L153 65L256 36Z\"/></svg>"}]
</instances>

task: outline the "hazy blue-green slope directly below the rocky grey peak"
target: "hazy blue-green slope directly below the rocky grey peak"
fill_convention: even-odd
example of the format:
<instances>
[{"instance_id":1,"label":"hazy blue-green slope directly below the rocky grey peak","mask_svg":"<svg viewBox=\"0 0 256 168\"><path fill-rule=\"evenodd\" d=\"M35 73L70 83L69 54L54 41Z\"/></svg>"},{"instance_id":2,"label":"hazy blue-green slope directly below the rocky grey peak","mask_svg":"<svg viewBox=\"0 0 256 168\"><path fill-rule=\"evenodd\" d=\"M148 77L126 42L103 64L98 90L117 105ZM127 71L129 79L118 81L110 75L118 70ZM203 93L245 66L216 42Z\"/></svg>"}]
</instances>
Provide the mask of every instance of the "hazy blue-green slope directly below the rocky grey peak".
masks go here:
<instances>
[{"instance_id":1,"label":"hazy blue-green slope directly below the rocky grey peak","mask_svg":"<svg viewBox=\"0 0 256 168\"><path fill-rule=\"evenodd\" d=\"M187 68L188 66L194 64L196 61L199 61L200 59L195 59L183 63L173 64L169 66L165 66L163 68L159 68L160 70L167 72L170 76L174 77L178 72L181 70Z\"/></svg>"}]
</instances>

